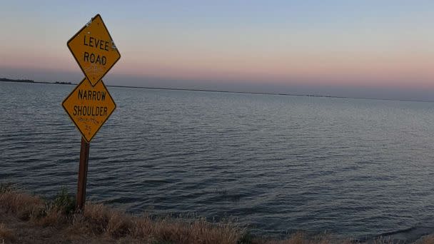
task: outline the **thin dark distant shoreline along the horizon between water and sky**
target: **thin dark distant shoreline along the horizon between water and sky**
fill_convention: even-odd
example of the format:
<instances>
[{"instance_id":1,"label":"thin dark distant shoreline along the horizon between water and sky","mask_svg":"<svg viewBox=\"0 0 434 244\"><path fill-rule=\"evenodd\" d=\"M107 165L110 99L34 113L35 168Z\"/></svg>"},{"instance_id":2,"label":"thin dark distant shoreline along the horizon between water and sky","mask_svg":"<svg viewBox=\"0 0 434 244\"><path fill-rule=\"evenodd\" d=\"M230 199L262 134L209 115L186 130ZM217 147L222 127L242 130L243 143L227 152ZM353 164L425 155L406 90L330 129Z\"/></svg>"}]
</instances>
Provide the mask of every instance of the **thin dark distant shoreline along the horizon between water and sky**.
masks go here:
<instances>
[{"instance_id":1,"label":"thin dark distant shoreline along the horizon between water and sky","mask_svg":"<svg viewBox=\"0 0 434 244\"><path fill-rule=\"evenodd\" d=\"M0 78L1 81L6 82L18 82L18 83L44 83L44 84L59 84L59 85L77 85L77 83L56 81L34 81L26 79L11 79ZM120 88L139 88L139 89L155 89L155 90L172 90L172 91L207 91L207 92L220 92L220 93L243 93L243 94L258 94L258 95L273 95L273 96L306 96L314 98L349 98L349 99L365 99L365 100L381 100L381 101L410 101L410 102L423 102L433 103L434 101L427 100L405 100L405 99L393 99L393 98L363 98L363 97L349 97L349 96L327 96L327 95L313 95L313 94L293 94L293 93L266 93L266 92L253 92L253 91L222 91L222 90L206 90L206 89L189 89L189 88L163 88L163 87L147 87L147 86L118 86L118 85L106 85L109 87Z\"/></svg>"}]
</instances>

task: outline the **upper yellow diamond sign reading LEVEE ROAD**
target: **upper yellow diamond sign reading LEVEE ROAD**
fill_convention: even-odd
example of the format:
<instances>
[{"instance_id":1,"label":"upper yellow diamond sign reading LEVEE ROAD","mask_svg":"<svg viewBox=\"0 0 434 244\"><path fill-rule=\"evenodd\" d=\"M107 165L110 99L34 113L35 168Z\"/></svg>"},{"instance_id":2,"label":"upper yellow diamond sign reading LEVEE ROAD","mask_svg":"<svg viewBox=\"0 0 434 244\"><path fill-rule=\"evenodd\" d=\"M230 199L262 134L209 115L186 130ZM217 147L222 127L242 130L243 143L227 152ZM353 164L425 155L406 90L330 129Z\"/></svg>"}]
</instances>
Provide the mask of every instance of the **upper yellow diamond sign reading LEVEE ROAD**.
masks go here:
<instances>
[{"instance_id":1,"label":"upper yellow diamond sign reading LEVEE ROAD","mask_svg":"<svg viewBox=\"0 0 434 244\"><path fill-rule=\"evenodd\" d=\"M99 14L69 39L68 48L92 86L121 58Z\"/></svg>"}]
</instances>

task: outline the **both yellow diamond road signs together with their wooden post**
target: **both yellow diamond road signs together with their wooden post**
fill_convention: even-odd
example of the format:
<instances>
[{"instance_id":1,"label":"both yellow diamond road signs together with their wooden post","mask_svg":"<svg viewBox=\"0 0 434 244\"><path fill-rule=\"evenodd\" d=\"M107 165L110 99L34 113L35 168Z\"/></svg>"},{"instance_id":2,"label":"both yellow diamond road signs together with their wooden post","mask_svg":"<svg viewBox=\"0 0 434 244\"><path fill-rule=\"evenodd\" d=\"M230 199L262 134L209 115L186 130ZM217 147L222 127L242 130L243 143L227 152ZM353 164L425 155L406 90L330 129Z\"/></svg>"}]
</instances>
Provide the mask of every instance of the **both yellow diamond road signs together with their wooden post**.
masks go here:
<instances>
[{"instance_id":1,"label":"both yellow diamond road signs together with their wooden post","mask_svg":"<svg viewBox=\"0 0 434 244\"><path fill-rule=\"evenodd\" d=\"M86 76L62 103L81 133L76 207L84 210L90 143L116 108L101 78L121 58L121 54L99 14L69 39L67 46Z\"/></svg>"}]
</instances>

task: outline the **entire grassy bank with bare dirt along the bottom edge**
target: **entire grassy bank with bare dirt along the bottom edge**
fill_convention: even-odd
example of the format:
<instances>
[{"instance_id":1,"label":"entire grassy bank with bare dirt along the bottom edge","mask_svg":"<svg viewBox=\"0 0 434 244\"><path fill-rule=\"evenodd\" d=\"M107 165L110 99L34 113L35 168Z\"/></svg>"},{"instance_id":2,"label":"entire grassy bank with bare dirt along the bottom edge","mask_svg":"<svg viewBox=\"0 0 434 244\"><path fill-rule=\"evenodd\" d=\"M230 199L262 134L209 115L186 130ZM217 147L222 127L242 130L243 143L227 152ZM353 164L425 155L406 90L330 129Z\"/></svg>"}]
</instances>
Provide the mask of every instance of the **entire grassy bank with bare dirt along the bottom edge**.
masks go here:
<instances>
[{"instance_id":1,"label":"entire grassy bank with bare dirt along the bottom edge","mask_svg":"<svg viewBox=\"0 0 434 244\"><path fill-rule=\"evenodd\" d=\"M46 200L0 186L0 243L245 243L313 244L350 243L303 233L286 240L263 240L248 235L234 223L209 223L203 219L133 216L101 204L88 203L76 212L74 198L62 190ZM373 240L372 243L391 243ZM418 243L434 243L424 238Z\"/></svg>"}]
</instances>

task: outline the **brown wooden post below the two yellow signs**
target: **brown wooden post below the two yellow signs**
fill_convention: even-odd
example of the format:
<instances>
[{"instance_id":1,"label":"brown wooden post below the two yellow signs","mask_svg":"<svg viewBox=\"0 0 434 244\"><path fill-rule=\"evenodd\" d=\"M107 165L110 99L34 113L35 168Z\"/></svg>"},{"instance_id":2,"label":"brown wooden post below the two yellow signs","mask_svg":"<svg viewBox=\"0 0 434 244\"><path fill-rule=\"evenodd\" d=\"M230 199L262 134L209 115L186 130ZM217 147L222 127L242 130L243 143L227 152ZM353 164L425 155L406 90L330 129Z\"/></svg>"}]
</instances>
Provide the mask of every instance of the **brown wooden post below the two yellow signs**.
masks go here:
<instances>
[{"instance_id":1,"label":"brown wooden post below the two yellow signs","mask_svg":"<svg viewBox=\"0 0 434 244\"><path fill-rule=\"evenodd\" d=\"M76 198L77 210L84 210L84 203L86 202L87 165L90 146L91 144L81 137L79 183Z\"/></svg>"}]
</instances>

